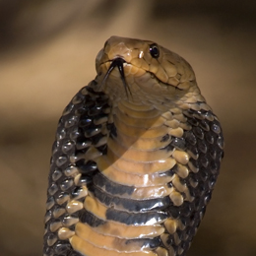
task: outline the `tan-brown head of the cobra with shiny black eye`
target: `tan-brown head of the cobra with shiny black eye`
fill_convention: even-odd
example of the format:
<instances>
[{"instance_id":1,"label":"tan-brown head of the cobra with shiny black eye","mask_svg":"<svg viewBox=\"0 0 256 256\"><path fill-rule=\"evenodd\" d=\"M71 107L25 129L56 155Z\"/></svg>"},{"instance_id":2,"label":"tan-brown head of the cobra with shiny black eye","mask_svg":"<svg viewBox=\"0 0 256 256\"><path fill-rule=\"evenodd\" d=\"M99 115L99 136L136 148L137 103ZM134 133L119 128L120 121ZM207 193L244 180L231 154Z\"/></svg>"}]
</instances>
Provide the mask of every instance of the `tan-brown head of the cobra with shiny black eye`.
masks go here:
<instances>
[{"instance_id":1,"label":"tan-brown head of the cobra with shiny black eye","mask_svg":"<svg viewBox=\"0 0 256 256\"><path fill-rule=\"evenodd\" d=\"M116 66L118 69L113 68ZM96 72L99 79L109 81L111 92L121 84L121 77L123 84L127 84L124 88L128 88L132 95L135 92L138 95L141 90L148 95L168 97L181 97L187 93L200 95L189 63L150 40L111 36L96 56Z\"/></svg>"}]
</instances>

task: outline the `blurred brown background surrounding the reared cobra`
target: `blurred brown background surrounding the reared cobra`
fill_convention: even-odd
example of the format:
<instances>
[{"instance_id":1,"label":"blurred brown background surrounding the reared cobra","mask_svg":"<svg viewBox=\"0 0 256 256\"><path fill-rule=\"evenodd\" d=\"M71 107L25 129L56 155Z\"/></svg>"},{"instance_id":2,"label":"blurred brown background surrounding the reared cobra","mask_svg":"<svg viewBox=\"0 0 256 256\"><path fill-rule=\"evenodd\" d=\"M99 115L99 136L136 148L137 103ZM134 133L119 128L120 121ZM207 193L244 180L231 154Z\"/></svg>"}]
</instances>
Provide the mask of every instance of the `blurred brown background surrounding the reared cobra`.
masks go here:
<instances>
[{"instance_id":1,"label":"blurred brown background surrounding the reared cobra","mask_svg":"<svg viewBox=\"0 0 256 256\"><path fill-rule=\"evenodd\" d=\"M193 66L225 157L189 256L256 255L256 2L0 0L0 254L41 255L51 144L110 35L152 39Z\"/></svg>"}]
</instances>

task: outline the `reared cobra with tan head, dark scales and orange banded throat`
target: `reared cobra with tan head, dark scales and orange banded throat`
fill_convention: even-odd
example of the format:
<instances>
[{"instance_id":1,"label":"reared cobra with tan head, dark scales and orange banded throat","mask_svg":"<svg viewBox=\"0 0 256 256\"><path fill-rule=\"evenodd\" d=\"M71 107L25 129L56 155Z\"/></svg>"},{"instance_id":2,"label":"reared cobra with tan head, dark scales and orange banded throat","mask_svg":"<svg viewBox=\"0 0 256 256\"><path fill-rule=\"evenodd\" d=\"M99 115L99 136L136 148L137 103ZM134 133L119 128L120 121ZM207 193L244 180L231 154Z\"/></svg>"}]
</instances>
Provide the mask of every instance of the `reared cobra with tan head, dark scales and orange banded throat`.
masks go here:
<instances>
[{"instance_id":1,"label":"reared cobra with tan head, dark scales and orange banded throat","mask_svg":"<svg viewBox=\"0 0 256 256\"><path fill-rule=\"evenodd\" d=\"M43 256L184 256L211 200L224 136L190 64L111 36L52 146Z\"/></svg>"}]
</instances>

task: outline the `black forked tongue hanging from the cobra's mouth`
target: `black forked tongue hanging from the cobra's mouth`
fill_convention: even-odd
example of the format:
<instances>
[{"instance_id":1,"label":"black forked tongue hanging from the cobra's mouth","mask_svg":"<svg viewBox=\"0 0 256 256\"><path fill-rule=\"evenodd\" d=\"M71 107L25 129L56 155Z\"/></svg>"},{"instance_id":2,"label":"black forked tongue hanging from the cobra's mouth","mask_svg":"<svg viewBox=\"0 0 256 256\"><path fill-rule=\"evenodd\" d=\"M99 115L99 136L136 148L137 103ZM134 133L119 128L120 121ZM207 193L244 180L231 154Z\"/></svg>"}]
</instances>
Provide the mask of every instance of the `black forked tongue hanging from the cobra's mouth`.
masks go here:
<instances>
[{"instance_id":1,"label":"black forked tongue hanging from the cobra's mouth","mask_svg":"<svg viewBox=\"0 0 256 256\"><path fill-rule=\"evenodd\" d=\"M124 63L126 63L126 61L121 57L113 59L105 76L104 76L103 83L107 80L107 78L109 77L111 72L114 70L114 68L117 67L118 71L120 73L121 81L123 83L126 96L128 97L129 95L132 96L132 93L131 93L131 90L130 90L128 84L126 83L126 80L125 80L124 68L123 68Z\"/></svg>"}]
</instances>

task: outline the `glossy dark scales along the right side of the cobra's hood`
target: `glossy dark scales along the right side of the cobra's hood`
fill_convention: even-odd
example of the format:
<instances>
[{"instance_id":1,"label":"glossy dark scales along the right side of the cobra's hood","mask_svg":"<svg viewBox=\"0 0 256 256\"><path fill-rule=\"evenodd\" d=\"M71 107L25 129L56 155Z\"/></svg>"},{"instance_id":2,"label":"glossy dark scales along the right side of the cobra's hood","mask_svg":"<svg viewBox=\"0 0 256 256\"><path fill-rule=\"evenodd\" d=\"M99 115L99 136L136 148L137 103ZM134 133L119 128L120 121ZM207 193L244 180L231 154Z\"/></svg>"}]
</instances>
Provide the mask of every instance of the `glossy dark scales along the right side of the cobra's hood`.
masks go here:
<instances>
[{"instance_id":1,"label":"glossy dark scales along the right side of the cobra's hood","mask_svg":"<svg viewBox=\"0 0 256 256\"><path fill-rule=\"evenodd\" d=\"M180 232L180 245L184 248L184 252L180 255L185 255L186 248L189 247L191 238L205 214L206 205L211 199L212 189L219 174L224 147L221 125L211 111L190 109L187 114L184 113L187 116L188 123L193 128L184 132L183 139L185 140L186 149L190 150L193 155L198 155L197 160L191 158L190 162L199 171L197 173L191 172L185 179L190 194L195 197L195 200L192 203L184 202L180 207L170 206L168 210L172 218L179 218L186 225L184 230L177 230L177 232ZM202 120L202 118L197 118L198 116L209 115L212 115L214 119ZM210 130L209 127L212 127L212 129ZM192 186L194 182L197 183L196 187ZM191 238L183 239L186 237L185 234Z\"/></svg>"}]
</instances>

